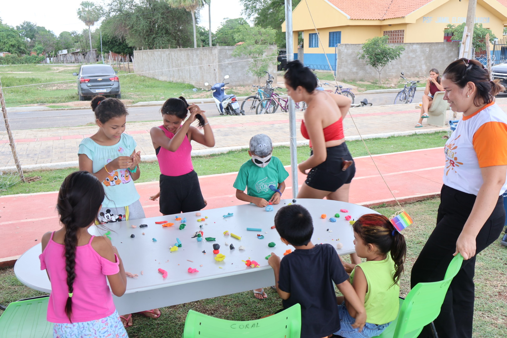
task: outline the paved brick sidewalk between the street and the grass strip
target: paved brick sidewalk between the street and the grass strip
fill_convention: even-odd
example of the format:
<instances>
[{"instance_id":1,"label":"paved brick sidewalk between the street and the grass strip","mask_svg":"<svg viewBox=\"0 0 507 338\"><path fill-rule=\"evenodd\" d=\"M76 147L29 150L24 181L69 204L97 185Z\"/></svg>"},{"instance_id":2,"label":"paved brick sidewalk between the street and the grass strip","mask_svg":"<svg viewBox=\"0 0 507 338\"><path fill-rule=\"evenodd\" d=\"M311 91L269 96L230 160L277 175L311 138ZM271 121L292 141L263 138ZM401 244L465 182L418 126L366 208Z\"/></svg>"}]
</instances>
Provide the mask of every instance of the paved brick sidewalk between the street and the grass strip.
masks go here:
<instances>
[{"instance_id":1,"label":"paved brick sidewalk between the street and the grass strip","mask_svg":"<svg viewBox=\"0 0 507 338\"><path fill-rule=\"evenodd\" d=\"M498 99L498 101L499 103L504 101L505 104L500 105L507 106L507 98ZM299 131L303 114L303 112L296 113L298 141L305 140ZM450 114L449 111L448 114ZM447 129L426 124L422 128L414 128L419 116L419 110L414 109L414 104L351 108L350 116L365 138ZM359 134L350 116L347 116L344 121L345 135L347 139L358 138ZM234 146L246 146L250 137L258 133L269 135L273 143L289 141L288 113L217 117L209 120L216 141L215 147L210 149L213 152L227 151ZM141 151L142 156L153 158L155 155L149 132L153 126L160 124L161 122L127 124L126 133L132 135L137 141L137 150ZM44 166L51 163L77 161L77 150L81 139L93 135L96 130L96 126L91 126L19 130L14 131L13 134L22 166ZM193 142L194 154L205 148ZM14 166L14 163L6 132L0 132L0 167L6 166Z\"/></svg>"}]
</instances>

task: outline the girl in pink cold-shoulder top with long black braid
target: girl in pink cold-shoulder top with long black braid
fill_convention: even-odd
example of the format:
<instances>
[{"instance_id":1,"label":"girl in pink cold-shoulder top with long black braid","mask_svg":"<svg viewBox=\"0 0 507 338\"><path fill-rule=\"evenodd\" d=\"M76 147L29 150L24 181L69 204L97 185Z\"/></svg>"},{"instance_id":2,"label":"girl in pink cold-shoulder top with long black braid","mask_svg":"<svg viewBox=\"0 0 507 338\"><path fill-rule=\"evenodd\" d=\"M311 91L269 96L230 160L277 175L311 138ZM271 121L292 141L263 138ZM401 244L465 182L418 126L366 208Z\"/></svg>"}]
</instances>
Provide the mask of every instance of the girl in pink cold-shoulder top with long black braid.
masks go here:
<instances>
[{"instance_id":1,"label":"girl in pink cold-shoulder top with long black braid","mask_svg":"<svg viewBox=\"0 0 507 338\"><path fill-rule=\"evenodd\" d=\"M47 320L54 337L127 337L111 295L127 287L122 260L110 240L88 233L103 199L102 184L87 171L71 173L60 186L63 226L44 234L39 256L51 281Z\"/></svg>"}]
</instances>

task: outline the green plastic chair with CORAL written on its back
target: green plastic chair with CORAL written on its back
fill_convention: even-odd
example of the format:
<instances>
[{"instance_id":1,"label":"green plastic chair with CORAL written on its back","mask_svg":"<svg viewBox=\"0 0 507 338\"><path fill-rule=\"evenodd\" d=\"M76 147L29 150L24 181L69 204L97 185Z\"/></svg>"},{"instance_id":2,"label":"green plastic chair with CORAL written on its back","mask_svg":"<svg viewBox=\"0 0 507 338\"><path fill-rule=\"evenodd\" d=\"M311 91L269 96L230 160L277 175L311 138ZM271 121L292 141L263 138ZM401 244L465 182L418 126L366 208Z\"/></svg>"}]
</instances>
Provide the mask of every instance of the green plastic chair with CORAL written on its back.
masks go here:
<instances>
[{"instance_id":1,"label":"green plastic chair with CORAL written on its back","mask_svg":"<svg viewBox=\"0 0 507 338\"><path fill-rule=\"evenodd\" d=\"M237 322L213 318L189 310L183 338L299 338L301 335L301 305L296 304L272 316Z\"/></svg>"}]
</instances>

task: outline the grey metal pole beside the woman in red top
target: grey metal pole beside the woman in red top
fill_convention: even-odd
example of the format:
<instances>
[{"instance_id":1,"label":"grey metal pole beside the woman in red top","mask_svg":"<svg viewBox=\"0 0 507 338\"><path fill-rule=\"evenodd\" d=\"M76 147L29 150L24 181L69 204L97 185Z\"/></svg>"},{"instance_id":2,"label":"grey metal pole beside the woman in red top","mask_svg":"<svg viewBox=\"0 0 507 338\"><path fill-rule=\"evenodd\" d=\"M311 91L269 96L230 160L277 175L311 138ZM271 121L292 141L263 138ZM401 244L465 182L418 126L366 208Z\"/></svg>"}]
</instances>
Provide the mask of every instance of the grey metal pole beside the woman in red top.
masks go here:
<instances>
[{"instance_id":1,"label":"grey metal pole beside the woman in red top","mask_svg":"<svg viewBox=\"0 0 507 338\"><path fill-rule=\"evenodd\" d=\"M294 34L292 31L292 0L285 0L285 48L287 62L294 60ZM288 127L291 145L292 197L298 196L298 148L296 146L296 105L292 98L288 99Z\"/></svg>"}]
</instances>

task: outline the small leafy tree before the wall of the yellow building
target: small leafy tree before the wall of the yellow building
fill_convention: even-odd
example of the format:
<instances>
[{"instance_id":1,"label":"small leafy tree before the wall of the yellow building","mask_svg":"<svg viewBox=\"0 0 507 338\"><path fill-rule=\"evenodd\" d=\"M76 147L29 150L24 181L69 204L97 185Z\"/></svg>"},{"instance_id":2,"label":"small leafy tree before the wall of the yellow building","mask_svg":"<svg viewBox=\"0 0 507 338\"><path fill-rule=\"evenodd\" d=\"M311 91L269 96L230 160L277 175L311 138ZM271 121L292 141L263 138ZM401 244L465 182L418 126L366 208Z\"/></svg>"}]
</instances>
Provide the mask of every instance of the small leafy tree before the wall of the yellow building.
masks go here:
<instances>
[{"instance_id":1,"label":"small leafy tree before the wall of the yellow building","mask_svg":"<svg viewBox=\"0 0 507 338\"><path fill-rule=\"evenodd\" d=\"M391 61L399 58L405 47L393 46L389 47L387 43L389 36L375 36L372 39L368 39L361 49L363 53L359 55L360 60L366 60L366 64L369 64L379 73L379 83L382 83L380 79L380 73L382 69Z\"/></svg>"}]
</instances>

